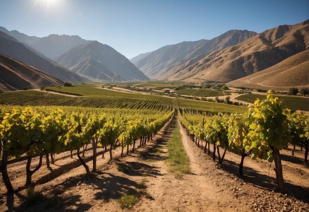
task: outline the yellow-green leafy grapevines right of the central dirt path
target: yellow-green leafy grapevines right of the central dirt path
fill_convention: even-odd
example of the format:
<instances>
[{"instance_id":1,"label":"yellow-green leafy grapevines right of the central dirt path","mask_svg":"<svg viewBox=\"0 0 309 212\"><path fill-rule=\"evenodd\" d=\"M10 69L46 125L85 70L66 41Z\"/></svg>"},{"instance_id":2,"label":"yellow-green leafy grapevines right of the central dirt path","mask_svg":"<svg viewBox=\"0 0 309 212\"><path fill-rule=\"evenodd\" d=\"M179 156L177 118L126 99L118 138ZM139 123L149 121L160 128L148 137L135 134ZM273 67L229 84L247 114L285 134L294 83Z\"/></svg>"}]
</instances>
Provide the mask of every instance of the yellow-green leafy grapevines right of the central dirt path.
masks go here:
<instances>
[{"instance_id":1,"label":"yellow-green leafy grapevines right of the central dirt path","mask_svg":"<svg viewBox=\"0 0 309 212\"><path fill-rule=\"evenodd\" d=\"M304 164L307 166L308 116L304 113L291 113L289 109L282 111L276 101L277 97L269 94L266 100L256 100L254 108L249 108L246 113L228 116L219 114L211 118L205 117L202 121L201 116L186 116L182 111L180 121L187 135L197 146L201 140L202 148L203 140L205 141L204 152L208 149L210 155L210 151L213 151L213 160L217 151L219 164L222 164L226 151L240 155L240 176L243 175L243 160L246 156L251 155L252 159L260 158L268 162L274 161L277 186L279 191L284 193L279 150L287 149L288 144L304 147ZM210 145L213 145L212 150ZM219 146L224 149L222 155Z\"/></svg>"}]
</instances>

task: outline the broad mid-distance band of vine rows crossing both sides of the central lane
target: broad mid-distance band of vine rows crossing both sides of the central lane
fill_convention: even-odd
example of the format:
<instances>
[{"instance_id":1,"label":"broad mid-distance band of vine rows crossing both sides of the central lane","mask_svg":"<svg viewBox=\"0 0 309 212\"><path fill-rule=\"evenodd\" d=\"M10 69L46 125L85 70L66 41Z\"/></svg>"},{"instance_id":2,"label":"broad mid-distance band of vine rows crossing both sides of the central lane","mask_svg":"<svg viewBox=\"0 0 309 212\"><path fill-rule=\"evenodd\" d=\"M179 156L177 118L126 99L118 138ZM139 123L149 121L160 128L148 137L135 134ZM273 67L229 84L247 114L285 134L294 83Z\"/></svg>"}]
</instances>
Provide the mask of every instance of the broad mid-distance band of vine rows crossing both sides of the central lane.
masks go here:
<instances>
[{"instance_id":1,"label":"broad mid-distance band of vine rows crossing both sides of the central lane","mask_svg":"<svg viewBox=\"0 0 309 212\"><path fill-rule=\"evenodd\" d=\"M74 87L73 87L74 88ZM75 87L77 88L77 87ZM88 89L88 87L85 87ZM41 91L16 91L0 94L0 104L31 105L31 106L79 106L94 108L129 108L129 109L163 109L167 107L186 108L207 112L243 112L244 107L218 104L205 101L169 98L157 95L138 95L110 91L106 89L90 89L101 92L101 95L70 97ZM87 90L86 89L86 90ZM79 90L78 90L79 91ZM75 91L76 92L76 91ZM85 91L87 93L89 91ZM105 95L103 95L105 94ZM125 97L127 96L127 97Z\"/></svg>"}]
</instances>

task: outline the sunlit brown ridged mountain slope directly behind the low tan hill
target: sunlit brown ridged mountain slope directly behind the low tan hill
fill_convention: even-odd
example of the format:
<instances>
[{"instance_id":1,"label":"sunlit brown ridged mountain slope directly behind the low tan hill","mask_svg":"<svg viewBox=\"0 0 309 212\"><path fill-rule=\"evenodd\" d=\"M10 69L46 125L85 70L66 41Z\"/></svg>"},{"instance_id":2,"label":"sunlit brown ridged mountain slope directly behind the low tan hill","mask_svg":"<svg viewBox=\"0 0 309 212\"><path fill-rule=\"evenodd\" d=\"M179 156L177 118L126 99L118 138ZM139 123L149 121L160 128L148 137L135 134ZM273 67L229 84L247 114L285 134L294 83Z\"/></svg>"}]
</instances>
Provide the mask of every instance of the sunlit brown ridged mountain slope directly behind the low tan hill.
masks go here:
<instances>
[{"instance_id":1,"label":"sunlit brown ridged mountain slope directly behind the low tan hill","mask_svg":"<svg viewBox=\"0 0 309 212\"><path fill-rule=\"evenodd\" d=\"M309 47L309 20L266 30L169 70L168 80L229 82L267 69Z\"/></svg>"}]
</instances>

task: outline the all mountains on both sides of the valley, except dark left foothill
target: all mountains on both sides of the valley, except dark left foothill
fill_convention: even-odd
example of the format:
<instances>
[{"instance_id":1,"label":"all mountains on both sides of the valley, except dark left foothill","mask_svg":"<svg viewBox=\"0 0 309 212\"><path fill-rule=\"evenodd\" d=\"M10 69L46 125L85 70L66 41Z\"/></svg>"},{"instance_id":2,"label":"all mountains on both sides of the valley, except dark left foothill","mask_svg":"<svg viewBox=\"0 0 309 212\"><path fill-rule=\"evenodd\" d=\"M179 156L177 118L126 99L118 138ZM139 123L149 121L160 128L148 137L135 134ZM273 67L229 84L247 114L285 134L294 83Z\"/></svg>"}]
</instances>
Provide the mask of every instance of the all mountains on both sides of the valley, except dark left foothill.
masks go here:
<instances>
[{"instance_id":1,"label":"all mountains on both sides of the valley, except dark left foothill","mask_svg":"<svg viewBox=\"0 0 309 212\"><path fill-rule=\"evenodd\" d=\"M0 27L1 54L69 82L151 78L286 90L308 86L308 49L309 20L260 33L230 30L211 40L167 45L130 60L106 44L79 36L40 38Z\"/></svg>"}]
</instances>

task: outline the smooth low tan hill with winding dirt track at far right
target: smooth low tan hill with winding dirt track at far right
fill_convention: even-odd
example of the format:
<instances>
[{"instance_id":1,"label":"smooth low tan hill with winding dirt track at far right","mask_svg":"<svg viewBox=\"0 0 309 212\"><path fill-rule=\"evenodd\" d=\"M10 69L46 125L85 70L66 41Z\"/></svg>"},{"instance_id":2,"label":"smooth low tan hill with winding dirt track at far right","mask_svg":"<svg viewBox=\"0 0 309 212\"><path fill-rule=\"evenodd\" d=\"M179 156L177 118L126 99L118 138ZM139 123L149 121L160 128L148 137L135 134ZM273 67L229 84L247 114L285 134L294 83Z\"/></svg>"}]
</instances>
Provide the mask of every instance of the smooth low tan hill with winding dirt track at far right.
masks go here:
<instances>
[{"instance_id":1,"label":"smooth low tan hill with winding dirt track at far right","mask_svg":"<svg viewBox=\"0 0 309 212\"><path fill-rule=\"evenodd\" d=\"M309 87L309 50L297 53L265 70L227 83L233 87L288 91L290 87Z\"/></svg>"}]
</instances>

